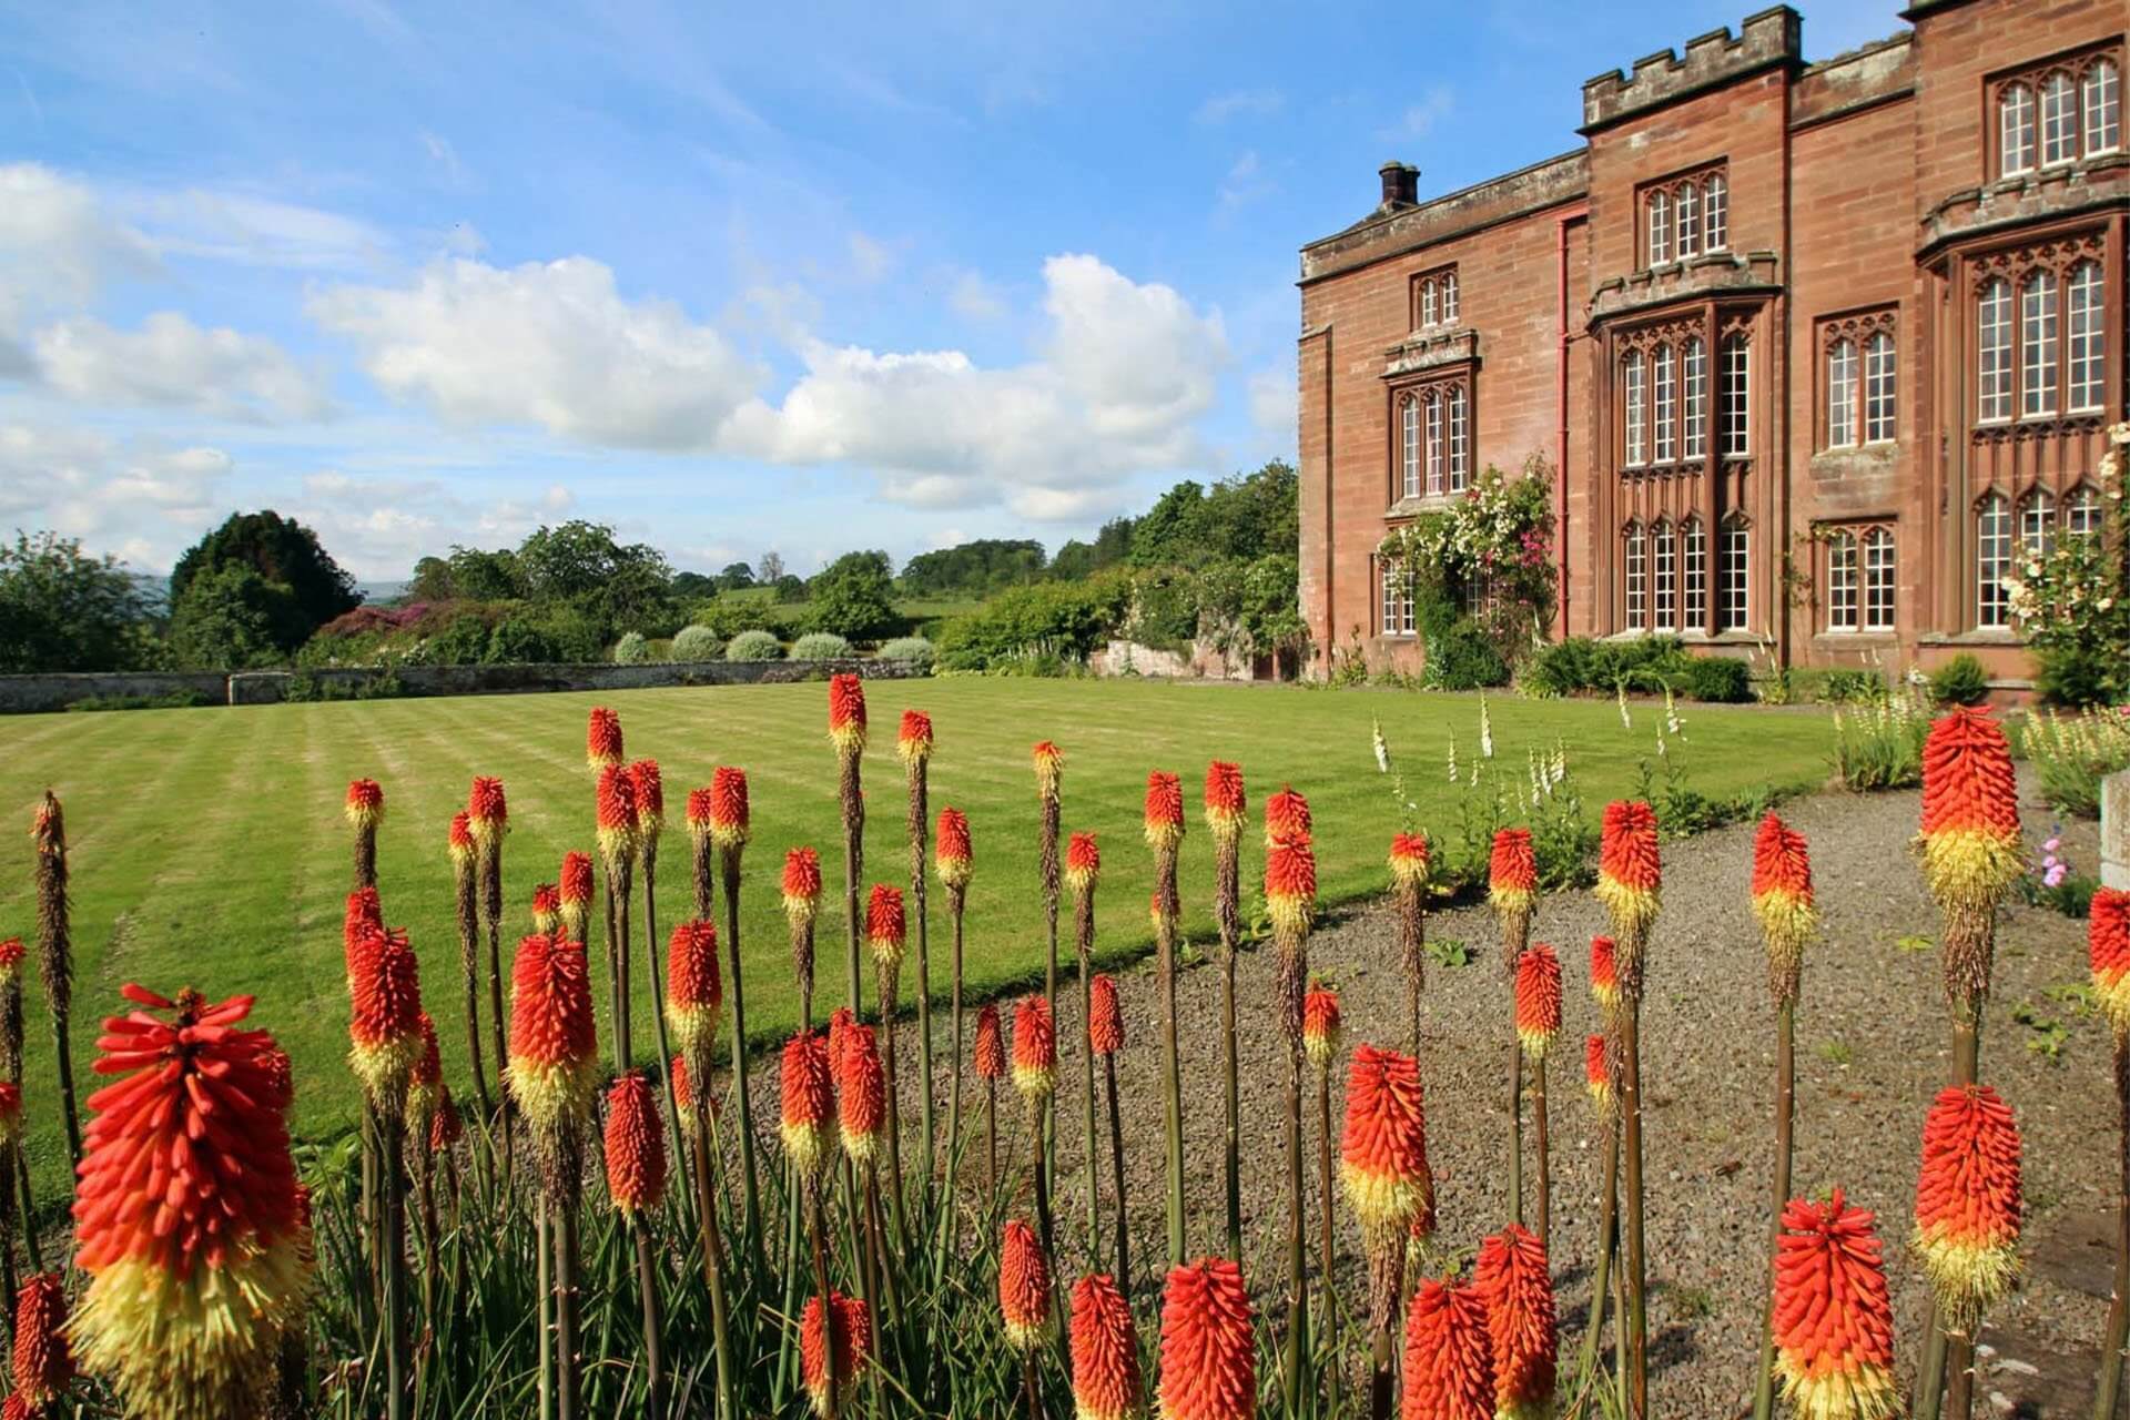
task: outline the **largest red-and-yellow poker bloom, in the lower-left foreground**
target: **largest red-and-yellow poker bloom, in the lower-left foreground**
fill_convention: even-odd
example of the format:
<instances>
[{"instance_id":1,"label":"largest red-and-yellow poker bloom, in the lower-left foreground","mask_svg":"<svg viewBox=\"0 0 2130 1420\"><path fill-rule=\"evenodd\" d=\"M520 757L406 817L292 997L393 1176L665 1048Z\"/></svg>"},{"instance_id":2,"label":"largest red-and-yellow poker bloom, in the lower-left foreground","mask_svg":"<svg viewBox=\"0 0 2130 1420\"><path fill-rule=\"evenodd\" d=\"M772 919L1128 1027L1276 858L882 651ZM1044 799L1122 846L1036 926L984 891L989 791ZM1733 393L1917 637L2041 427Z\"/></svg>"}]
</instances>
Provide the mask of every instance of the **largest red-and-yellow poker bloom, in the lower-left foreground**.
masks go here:
<instances>
[{"instance_id":1,"label":"largest red-and-yellow poker bloom, in the lower-left foreground","mask_svg":"<svg viewBox=\"0 0 2130 1420\"><path fill-rule=\"evenodd\" d=\"M288 1124L262 1103L273 1037L239 1026L249 996L124 994L138 1009L96 1041L96 1073L124 1079L89 1096L75 1190L75 1358L128 1414L251 1414L309 1271Z\"/></svg>"}]
</instances>

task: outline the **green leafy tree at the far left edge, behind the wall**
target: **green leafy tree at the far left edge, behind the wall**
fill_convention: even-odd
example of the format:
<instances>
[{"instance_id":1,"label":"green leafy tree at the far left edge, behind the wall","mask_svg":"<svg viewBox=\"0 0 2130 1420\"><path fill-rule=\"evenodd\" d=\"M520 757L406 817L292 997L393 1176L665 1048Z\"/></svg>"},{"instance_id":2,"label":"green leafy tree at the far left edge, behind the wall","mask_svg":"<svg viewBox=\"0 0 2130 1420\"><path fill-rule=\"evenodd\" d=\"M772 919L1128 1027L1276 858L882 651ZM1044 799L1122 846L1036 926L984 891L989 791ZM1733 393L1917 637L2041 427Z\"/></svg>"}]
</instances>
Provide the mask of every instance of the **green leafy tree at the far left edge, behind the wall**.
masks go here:
<instances>
[{"instance_id":1,"label":"green leafy tree at the far left edge, behind the wall","mask_svg":"<svg viewBox=\"0 0 2130 1420\"><path fill-rule=\"evenodd\" d=\"M147 598L124 562L55 532L0 543L0 673L126 671L147 645Z\"/></svg>"}]
</instances>

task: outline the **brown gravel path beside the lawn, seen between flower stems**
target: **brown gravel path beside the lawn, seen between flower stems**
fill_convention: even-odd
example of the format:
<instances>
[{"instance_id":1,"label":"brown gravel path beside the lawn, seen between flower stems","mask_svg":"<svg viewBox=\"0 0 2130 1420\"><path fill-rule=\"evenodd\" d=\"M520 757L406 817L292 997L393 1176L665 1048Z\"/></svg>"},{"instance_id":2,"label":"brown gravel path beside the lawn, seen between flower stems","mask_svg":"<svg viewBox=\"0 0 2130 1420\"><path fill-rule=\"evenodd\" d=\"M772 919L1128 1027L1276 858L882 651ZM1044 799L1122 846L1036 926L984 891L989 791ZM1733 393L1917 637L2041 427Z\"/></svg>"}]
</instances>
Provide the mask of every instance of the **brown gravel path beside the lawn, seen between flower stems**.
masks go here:
<instances>
[{"instance_id":1,"label":"brown gravel path beside the lawn, seen between flower stems","mask_svg":"<svg viewBox=\"0 0 2130 1420\"><path fill-rule=\"evenodd\" d=\"M1913 1220L1917 1139L1932 1092L1949 1081L1947 1007L1938 986L1936 909L1908 860L1917 794L1819 794L1787 805L1806 835L1825 939L1808 954L1798 1009L1796 1192L1840 1186L1879 1213L1898 1311L1902 1377L1923 1335L1928 1286L1906 1237ZM2043 805L2026 809L2030 843L2051 830ZM1384 830L1389 837L1389 828ZM1664 915L1651 943L1642 1018L1646 1235L1651 1279L1653 1411L1736 1416L1751 1409L1751 1377L1766 1288L1772 1158L1770 1092L1774 1030L1764 954L1747 884L1753 828L1732 826L1687 843L1666 843ZM2064 843L2092 869L2092 826L2070 826ZM1257 854L1246 845L1244 873ZM1186 894L1206 884L1184 884ZM1137 907L1137 905L1133 905ZM937 905L935 905L937 909ZM1031 892L1031 911L1035 898ZM1103 911L1123 903L1103 901ZM1065 913L1069 926L1069 911ZM824 924L826 926L826 924ZM1561 1286L1563 1369L1583 1337L1589 1267L1598 1245L1602 1137L1583 1096L1583 1052L1595 1030L1587 986L1587 941L1604 911L1585 894L1540 903L1534 941L1559 947L1568 1020L1551 1064L1553 1267ZM944 932L941 932L944 937ZM1429 1156L1436 1169L1438 1243L1470 1254L1506 1209L1506 1054L1510 992L1500 971L1497 932L1485 909L1438 913L1431 941L1463 941L1474 960L1429 962L1425 1047ZM829 941L829 932L824 932ZM2019 1116L2026 1137L2026 1252L2030 1267L1985 1328L1985 1384L1977 1414L2087 1414L2094 1352L2109 1294L2109 1237L2115 1177L2115 1103L2102 1020L2051 988L2085 981L2085 924L2053 911L2013 907L1998 930L1996 990L1983 1045L1983 1077ZM1216 943L1193 943L1208 956ZM826 960L826 958L824 958ZM1380 905L1321 926L1310 967L1340 988L1346 1041L1397 1043L1404 1033L1395 922ZM1078 990L1061 979L1059 1039L1078 1035ZM1157 1303L1163 1267L1161 1054L1157 984L1146 967L1120 975L1127 1050L1118 1058L1125 1099L1127 1188L1135 1290L1142 1322ZM829 992L824 975L824 994ZM1220 1064L1214 1024L1220 973L1193 956L1180 979L1184 1022L1186 1199L1193 1254L1220 1250ZM1240 964L1244 1273L1274 1316L1284 1271L1280 1150L1282 1047L1269 1024L1272 952ZM944 1064L946 1011L935 1013ZM2053 1026L2049 1024L2053 1022ZM973 1035L973 1011L969 1020ZM2053 1054L2051 1054L2053 1050ZM901 1043L903 1124L916 1128L916 1041ZM1084 1254L1080 1182L1080 1052L1065 1050L1059 1077L1059 1248L1069 1277ZM1342 1113L1333 1084L1333 1130ZM1314 1096L1314 1090L1312 1090ZM773 1101L773 1086L758 1099ZM773 1105L771 1105L773 1109ZM978 1116L971 1116L976 1120ZM1308 1103L1314 1258L1314 1099ZM765 1120L767 1124L767 1120ZM944 1128L944 1107L941 1107ZM1003 1145L1001 1145L1003 1147ZM1105 1147L1105 1145L1103 1145ZM1525 1122L1525 1147L1531 1126ZM905 1147L905 1160L912 1152ZM1527 1162L1525 1196L1529 1201ZM1108 1162L1103 1158L1103 1207ZM1340 1288L1365 1305L1359 1239L1338 1203ZM1101 1262L1108 1269L1108 1260ZM1359 1354L1359 1348L1355 1348Z\"/></svg>"}]
</instances>

